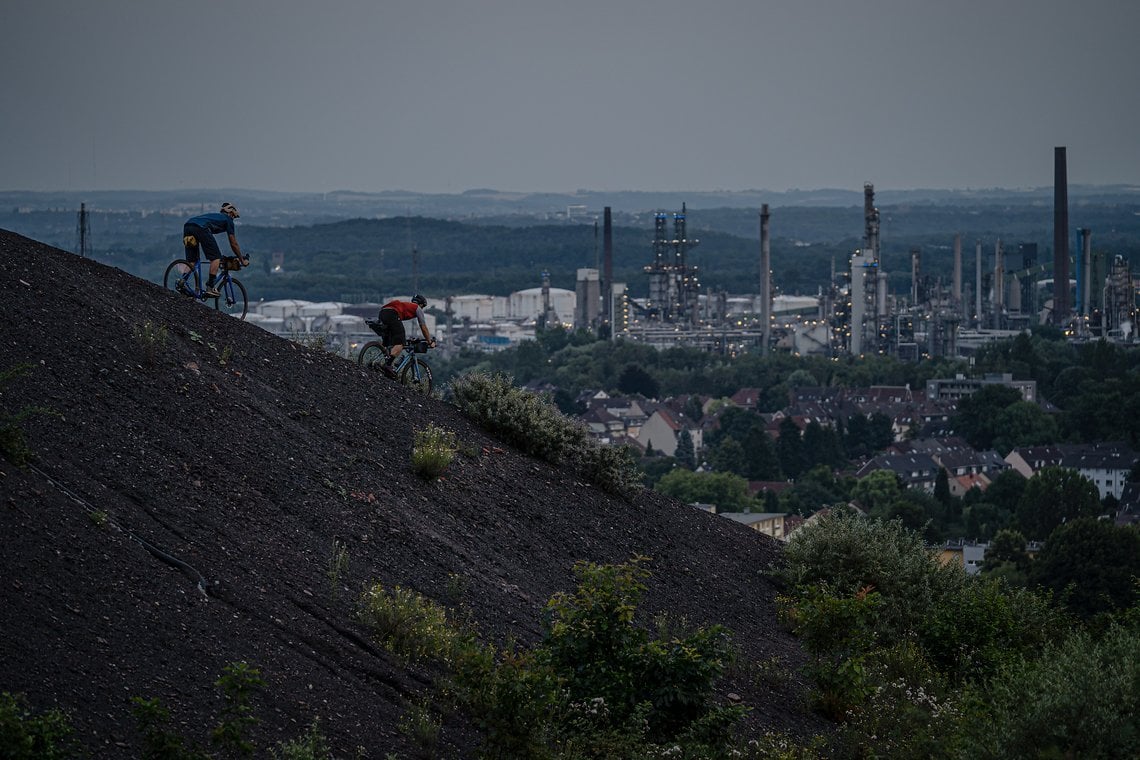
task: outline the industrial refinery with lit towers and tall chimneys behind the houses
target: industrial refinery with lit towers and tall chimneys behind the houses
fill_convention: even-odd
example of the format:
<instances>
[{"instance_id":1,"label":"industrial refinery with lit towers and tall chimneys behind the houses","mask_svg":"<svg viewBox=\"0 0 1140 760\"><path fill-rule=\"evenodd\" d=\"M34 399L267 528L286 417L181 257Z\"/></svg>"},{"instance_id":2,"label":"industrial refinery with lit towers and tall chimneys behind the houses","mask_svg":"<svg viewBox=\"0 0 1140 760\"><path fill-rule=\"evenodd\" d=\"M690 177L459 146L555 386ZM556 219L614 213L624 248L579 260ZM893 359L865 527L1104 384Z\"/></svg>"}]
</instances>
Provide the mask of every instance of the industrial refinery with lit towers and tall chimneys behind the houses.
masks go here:
<instances>
[{"instance_id":1,"label":"industrial refinery with lit towers and tall chimneys behind the houses","mask_svg":"<svg viewBox=\"0 0 1140 760\"><path fill-rule=\"evenodd\" d=\"M767 205L759 211L759 271L755 294L702 293L687 254L699 242L686 234L686 211L656 215L651 260L644 267L649 296L629 297L614 283L610 211L605 210L604 269L578 270L575 326L600 328L658 346L710 351L791 351L799 354L889 354L905 360L968 356L980 344L1052 325L1073 340L1134 340L1135 287L1123 256L1093 252L1092 231L1068 232L1065 148L1054 149L1053 256L1039 260L1037 244L972 242L963 260L953 239L951 281L923 273L922 252L910 251L910 288L890 293L881 255L874 187L864 185L862 247L831 273L816 296L785 296L772 281ZM972 265L971 265L972 263ZM895 265L901 265L897 262ZM972 277L966 272L972 271ZM1072 271L1072 276L1070 276ZM1058 283L1067 284L1057 287ZM545 284L544 284L545 285ZM547 309L544 313L549 313Z\"/></svg>"}]
</instances>

